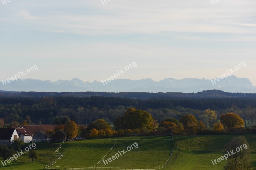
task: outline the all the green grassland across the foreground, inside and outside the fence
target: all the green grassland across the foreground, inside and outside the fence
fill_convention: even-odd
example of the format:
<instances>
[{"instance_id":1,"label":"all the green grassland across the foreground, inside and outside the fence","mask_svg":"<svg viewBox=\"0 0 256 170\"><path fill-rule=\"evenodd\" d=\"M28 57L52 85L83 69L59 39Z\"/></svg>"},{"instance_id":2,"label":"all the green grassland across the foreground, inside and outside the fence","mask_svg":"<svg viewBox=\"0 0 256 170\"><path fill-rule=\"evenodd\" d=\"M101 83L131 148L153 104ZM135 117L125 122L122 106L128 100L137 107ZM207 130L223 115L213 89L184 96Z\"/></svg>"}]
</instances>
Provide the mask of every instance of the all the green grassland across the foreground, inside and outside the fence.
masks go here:
<instances>
[{"instance_id":1,"label":"all the green grassland across the foreground, inside and outside the fence","mask_svg":"<svg viewBox=\"0 0 256 170\"><path fill-rule=\"evenodd\" d=\"M237 136L237 135L236 135ZM256 135L240 135L246 137L252 149L252 162L256 165ZM170 169L224 169L227 164L222 160L217 165L212 165L211 160L223 155L224 145L235 135L205 135L205 136L173 136L174 154L169 164L162 170ZM146 139L146 140L142 140ZM132 149L118 160L113 160L107 165L102 161L97 167L134 167L148 168L163 165L172 150L171 137L122 137L108 139L87 139L81 141L66 142L58 153L64 156L53 166L91 167L97 164L106 153L113 150L104 159L108 159L133 143L138 144L137 149ZM52 153L59 147L60 143L36 143L36 152L40 158L32 163L27 155L21 156L8 166L0 166L0 169L44 169L44 165L57 159ZM27 154L27 153L26 153ZM256 167L256 166L255 166Z\"/></svg>"}]
</instances>

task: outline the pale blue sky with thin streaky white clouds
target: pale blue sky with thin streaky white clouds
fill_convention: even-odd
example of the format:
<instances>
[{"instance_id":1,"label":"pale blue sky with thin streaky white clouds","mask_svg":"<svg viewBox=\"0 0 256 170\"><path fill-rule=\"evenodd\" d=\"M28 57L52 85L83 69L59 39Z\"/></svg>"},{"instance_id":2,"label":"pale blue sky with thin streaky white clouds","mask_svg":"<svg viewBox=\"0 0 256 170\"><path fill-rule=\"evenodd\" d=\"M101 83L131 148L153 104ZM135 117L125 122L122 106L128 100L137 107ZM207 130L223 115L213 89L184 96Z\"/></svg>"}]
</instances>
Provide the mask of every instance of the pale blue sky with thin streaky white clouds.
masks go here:
<instances>
[{"instance_id":1,"label":"pale blue sky with thin streaky white clouds","mask_svg":"<svg viewBox=\"0 0 256 170\"><path fill-rule=\"evenodd\" d=\"M0 79L93 82L220 77L256 85L255 0L0 2ZM104 1L103 1L104 2Z\"/></svg>"}]
</instances>

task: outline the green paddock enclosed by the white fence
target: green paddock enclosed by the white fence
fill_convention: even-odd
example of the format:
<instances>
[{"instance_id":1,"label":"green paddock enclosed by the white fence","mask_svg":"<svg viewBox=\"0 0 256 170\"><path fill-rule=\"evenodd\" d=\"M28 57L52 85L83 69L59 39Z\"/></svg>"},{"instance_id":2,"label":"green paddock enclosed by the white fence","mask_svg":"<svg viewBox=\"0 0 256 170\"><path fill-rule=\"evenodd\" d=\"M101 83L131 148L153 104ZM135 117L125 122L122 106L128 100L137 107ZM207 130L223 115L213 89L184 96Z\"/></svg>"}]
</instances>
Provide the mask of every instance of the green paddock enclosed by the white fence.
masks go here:
<instances>
[{"instance_id":1,"label":"green paddock enclosed by the white fence","mask_svg":"<svg viewBox=\"0 0 256 170\"><path fill-rule=\"evenodd\" d=\"M134 143L137 143L138 147L127 151L124 155L121 153L122 156L118 160L113 160L106 165L100 161L114 144L113 150L104 157L105 160L119 153L118 151L123 149L126 151L126 148ZM84 152L77 155L76 153L80 151ZM100 161L97 167L156 168L168 160L171 152L172 137L170 136L88 139L64 143L58 152L64 153L64 156L53 166L92 167Z\"/></svg>"}]
</instances>

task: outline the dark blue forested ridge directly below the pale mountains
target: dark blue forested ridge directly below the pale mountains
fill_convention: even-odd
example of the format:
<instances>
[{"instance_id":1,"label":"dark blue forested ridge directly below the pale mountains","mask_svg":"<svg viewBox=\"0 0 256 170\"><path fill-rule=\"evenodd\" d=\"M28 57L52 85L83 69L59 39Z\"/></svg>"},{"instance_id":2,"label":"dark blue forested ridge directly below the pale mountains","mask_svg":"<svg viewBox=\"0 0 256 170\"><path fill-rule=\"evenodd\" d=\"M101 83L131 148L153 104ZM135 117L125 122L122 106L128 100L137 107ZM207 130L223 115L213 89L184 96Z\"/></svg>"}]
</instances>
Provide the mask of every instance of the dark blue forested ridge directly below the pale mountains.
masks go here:
<instances>
[{"instance_id":1,"label":"dark blue forested ridge directly below the pale mountains","mask_svg":"<svg viewBox=\"0 0 256 170\"><path fill-rule=\"evenodd\" d=\"M120 98L254 98L251 93L228 93L221 90L206 90L197 93L147 93L147 92L11 92L0 91L0 97L120 97Z\"/></svg>"}]
</instances>

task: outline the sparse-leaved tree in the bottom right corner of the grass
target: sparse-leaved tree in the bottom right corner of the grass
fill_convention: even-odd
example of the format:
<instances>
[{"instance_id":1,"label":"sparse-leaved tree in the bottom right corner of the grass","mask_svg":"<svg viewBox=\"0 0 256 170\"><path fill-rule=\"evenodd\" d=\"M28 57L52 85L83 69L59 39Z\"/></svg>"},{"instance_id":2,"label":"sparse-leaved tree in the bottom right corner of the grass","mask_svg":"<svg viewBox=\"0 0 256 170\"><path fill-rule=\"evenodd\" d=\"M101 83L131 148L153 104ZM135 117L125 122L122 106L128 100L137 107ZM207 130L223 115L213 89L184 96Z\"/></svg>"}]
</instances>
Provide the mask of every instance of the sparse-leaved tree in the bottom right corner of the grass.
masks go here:
<instances>
[{"instance_id":1,"label":"sparse-leaved tree in the bottom right corner of the grass","mask_svg":"<svg viewBox=\"0 0 256 170\"><path fill-rule=\"evenodd\" d=\"M238 150L238 149L239 150ZM235 152L228 157L227 170L251 169L251 149L245 137L234 137L225 145L225 154Z\"/></svg>"}]
</instances>

